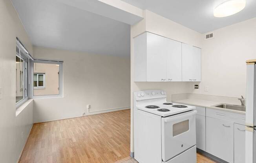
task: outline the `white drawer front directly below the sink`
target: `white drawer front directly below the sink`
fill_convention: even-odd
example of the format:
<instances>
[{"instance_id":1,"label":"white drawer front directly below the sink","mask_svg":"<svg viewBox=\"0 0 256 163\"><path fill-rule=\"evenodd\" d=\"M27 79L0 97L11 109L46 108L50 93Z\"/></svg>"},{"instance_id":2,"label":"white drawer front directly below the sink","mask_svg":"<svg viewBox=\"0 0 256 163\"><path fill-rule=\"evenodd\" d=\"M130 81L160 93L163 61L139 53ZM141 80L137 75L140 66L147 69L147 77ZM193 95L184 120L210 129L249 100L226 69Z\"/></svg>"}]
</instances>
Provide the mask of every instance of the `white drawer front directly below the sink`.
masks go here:
<instances>
[{"instance_id":1,"label":"white drawer front directly below the sink","mask_svg":"<svg viewBox=\"0 0 256 163\"><path fill-rule=\"evenodd\" d=\"M206 116L245 125L245 114L207 108Z\"/></svg>"}]
</instances>

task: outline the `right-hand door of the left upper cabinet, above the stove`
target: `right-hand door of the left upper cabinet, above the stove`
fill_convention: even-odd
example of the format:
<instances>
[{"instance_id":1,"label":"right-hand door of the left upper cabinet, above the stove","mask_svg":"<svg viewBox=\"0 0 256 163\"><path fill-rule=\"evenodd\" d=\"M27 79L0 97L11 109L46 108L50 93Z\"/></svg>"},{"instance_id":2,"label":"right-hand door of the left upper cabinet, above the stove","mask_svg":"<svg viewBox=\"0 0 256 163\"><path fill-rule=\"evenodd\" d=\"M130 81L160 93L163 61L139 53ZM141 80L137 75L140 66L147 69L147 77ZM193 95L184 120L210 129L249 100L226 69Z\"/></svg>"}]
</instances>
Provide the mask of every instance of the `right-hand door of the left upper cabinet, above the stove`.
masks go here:
<instances>
[{"instance_id":1,"label":"right-hand door of the left upper cabinet, above the stove","mask_svg":"<svg viewBox=\"0 0 256 163\"><path fill-rule=\"evenodd\" d=\"M166 38L167 82L182 81L181 42Z\"/></svg>"}]
</instances>

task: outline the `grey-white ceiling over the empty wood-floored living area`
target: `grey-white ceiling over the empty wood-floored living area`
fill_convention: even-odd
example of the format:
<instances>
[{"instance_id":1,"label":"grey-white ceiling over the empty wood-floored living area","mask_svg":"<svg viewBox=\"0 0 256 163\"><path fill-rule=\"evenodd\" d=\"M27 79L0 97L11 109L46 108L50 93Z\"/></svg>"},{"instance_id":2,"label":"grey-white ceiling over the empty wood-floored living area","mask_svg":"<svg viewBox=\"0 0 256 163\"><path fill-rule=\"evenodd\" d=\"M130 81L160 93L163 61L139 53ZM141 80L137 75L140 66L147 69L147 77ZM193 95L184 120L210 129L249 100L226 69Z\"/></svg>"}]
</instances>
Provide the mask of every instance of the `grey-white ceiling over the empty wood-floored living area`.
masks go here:
<instances>
[{"instance_id":1,"label":"grey-white ceiling over the empty wood-floored living area","mask_svg":"<svg viewBox=\"0 0 256 163\"><path fill-rule=\"evenodd\" d=\"M130 56L130 25L56 0L12 0L35 46Z\"/></svg>"}]
</instances>

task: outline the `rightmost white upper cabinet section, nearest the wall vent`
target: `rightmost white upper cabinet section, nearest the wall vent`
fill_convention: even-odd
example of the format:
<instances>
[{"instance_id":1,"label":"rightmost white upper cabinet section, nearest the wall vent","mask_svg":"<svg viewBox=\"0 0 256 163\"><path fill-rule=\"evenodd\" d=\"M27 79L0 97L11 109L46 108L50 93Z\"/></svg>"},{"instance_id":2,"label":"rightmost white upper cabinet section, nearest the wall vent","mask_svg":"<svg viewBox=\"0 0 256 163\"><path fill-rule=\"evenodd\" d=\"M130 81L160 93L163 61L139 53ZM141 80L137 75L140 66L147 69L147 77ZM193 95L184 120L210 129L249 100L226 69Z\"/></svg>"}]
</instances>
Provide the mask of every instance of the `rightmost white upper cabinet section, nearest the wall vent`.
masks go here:
<instances>
[{"instance_id":1,"label":"rightmost white upper cabinet section, nearest the wall vent","mask_svg":"<svg viewBox=\"0 0 256 163\"><path fill-rule=\"evenodd\" d=\"M201 49L182 43L182 81L201 82Z\"/></svg>"}]
</instances>

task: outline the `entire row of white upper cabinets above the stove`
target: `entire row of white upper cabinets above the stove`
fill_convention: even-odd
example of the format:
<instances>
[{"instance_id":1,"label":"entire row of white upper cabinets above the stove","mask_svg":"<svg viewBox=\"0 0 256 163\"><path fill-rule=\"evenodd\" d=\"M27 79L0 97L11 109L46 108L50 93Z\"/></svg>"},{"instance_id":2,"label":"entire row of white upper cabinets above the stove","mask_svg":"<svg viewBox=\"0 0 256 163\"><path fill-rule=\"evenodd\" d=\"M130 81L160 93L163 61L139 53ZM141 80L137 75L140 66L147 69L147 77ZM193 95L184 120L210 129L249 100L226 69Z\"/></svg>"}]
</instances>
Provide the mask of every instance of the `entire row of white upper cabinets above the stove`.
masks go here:
<instances>
[{"instance_id":1,"label":"entire row of white upper cabinets above the stove","mask_svg":"<svg viewBox=\"0 0 256 163\"><path fill-rule=\"evenodd\" d=\"M185 66L185 71L190 75L185 81L201 80L199 48L185 48L183 56L181 42L145 32L133 38L133 54L134 82L181 82L183 62L193 64L190 66L192 69ZM188 59L183 61L184 57Z\"/></svg>"}]
</instances>

